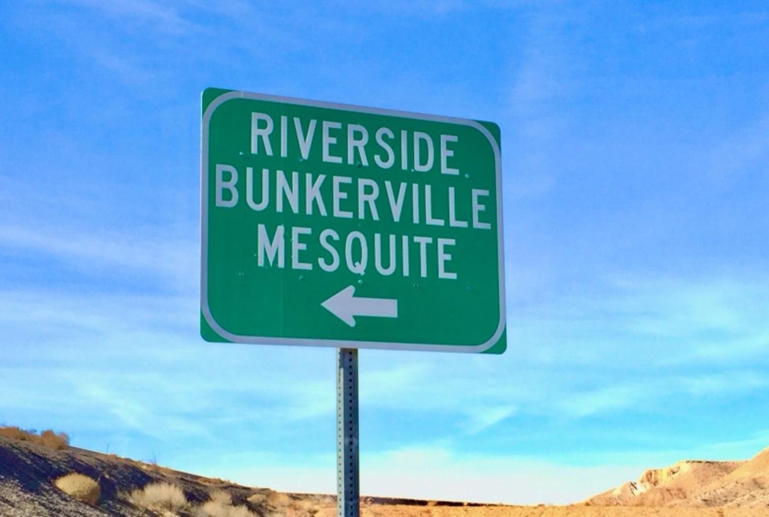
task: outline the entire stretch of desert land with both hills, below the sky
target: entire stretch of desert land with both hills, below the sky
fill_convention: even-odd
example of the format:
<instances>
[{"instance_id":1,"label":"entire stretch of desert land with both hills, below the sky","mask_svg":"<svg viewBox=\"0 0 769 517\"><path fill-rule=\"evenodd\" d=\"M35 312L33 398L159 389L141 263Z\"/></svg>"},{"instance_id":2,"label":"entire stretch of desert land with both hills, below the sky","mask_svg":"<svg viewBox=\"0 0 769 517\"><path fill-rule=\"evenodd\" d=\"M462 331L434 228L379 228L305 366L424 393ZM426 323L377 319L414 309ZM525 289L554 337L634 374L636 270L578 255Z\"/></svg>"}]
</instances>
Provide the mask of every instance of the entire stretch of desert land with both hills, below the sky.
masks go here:
<instances>
[{"instance_id":1,"label":"entire stretch of desert land with both hills, below the sky","mask_svg":"<svg viewBox=\"0 0 769 517\"><path fill-rule=\"evenodd\" d=\"M745 462L679 462L575 505L513 506L365 497L364 517L769 517L764 451ZM0 433L0 515L333 517L332 495L240 486L115 455L56 436Z\"/></svg>"}]
</instances>

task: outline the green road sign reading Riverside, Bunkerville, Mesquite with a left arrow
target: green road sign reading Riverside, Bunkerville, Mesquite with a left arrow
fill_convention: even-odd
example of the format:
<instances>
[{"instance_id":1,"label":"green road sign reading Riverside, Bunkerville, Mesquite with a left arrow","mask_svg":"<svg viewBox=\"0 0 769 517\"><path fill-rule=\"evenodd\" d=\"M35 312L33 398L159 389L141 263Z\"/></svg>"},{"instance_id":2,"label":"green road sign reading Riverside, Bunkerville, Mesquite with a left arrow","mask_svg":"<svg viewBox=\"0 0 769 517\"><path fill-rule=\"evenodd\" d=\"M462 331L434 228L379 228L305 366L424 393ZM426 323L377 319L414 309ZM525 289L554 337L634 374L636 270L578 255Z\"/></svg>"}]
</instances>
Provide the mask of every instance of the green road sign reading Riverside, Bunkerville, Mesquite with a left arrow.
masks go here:
<instances>
[{"instance_id":1,"label":"green road sign reading Riverside, Bunkerville, Mesquite with a left arrow","mask_svg":"<svg viewBox=\"0 0 769 517\"><path fill-rule=\"evenodd\" d=\"M502 353L496 124L208 88L201 336Z\"/></svg>"}]
</instances>

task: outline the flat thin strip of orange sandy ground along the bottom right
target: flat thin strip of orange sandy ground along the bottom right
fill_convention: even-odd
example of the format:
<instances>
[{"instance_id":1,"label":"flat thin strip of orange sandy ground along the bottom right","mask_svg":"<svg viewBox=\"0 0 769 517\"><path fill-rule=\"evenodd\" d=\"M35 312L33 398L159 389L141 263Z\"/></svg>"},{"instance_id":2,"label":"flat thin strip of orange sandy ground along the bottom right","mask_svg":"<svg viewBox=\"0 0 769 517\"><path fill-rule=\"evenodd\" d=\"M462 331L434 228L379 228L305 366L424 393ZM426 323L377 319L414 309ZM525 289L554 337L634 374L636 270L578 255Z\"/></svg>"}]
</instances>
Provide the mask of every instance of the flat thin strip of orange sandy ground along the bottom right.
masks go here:
<instances>
[{"instance_id":1,"label":"flat thin strip of orange sandy ground along the bottom right","mask_svg":"<svg viewBox=\"0 0 769 517\"><path fill-rule=\"evenodd\" d=\"M336 507L316 517L334 517ZM763 517L769 508L637 508L621 506L405 506L370 505L361 517Z\"/></svg>"}]
</instances>

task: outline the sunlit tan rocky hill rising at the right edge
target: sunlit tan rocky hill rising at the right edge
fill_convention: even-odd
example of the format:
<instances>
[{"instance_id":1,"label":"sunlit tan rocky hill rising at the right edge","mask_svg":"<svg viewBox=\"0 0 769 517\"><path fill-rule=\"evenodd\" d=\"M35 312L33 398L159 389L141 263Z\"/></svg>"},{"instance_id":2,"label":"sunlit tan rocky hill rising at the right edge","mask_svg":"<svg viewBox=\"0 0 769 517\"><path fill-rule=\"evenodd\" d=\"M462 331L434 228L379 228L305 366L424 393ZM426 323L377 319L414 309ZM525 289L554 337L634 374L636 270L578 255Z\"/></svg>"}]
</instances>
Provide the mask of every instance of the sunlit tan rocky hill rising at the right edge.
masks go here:
<instances>
[{"instance_id":1,"label":"sunlit tan rocky hill rising at the right edge","mask_svg":"<svg viewBox=\"0 0 769 517\"><path fill-rule=\"evenodd\" d=\"M736 462L686 460L594 495L591 505L769 507L769 449Z\"/></svg>"}]
</instances>

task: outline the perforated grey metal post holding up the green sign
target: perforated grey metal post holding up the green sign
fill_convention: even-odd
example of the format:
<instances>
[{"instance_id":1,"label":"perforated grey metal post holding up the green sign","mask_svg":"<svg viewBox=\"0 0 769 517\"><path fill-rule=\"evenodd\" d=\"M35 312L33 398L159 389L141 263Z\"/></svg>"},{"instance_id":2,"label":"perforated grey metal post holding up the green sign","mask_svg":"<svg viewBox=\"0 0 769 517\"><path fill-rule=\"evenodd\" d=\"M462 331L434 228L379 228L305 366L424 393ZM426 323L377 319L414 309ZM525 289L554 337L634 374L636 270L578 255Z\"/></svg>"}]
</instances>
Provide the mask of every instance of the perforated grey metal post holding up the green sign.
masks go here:
<instances>
[{"instance_id":1,"label":"perforated grey metal post holding up the green sign","mask_svg":"<svg viewBox=\"0 0 769 517\"><path fill-rule=\"evenodd\" d=\"M358 350L337 349L337 515L360 515Z\"/></svg>"}]
</instances>

